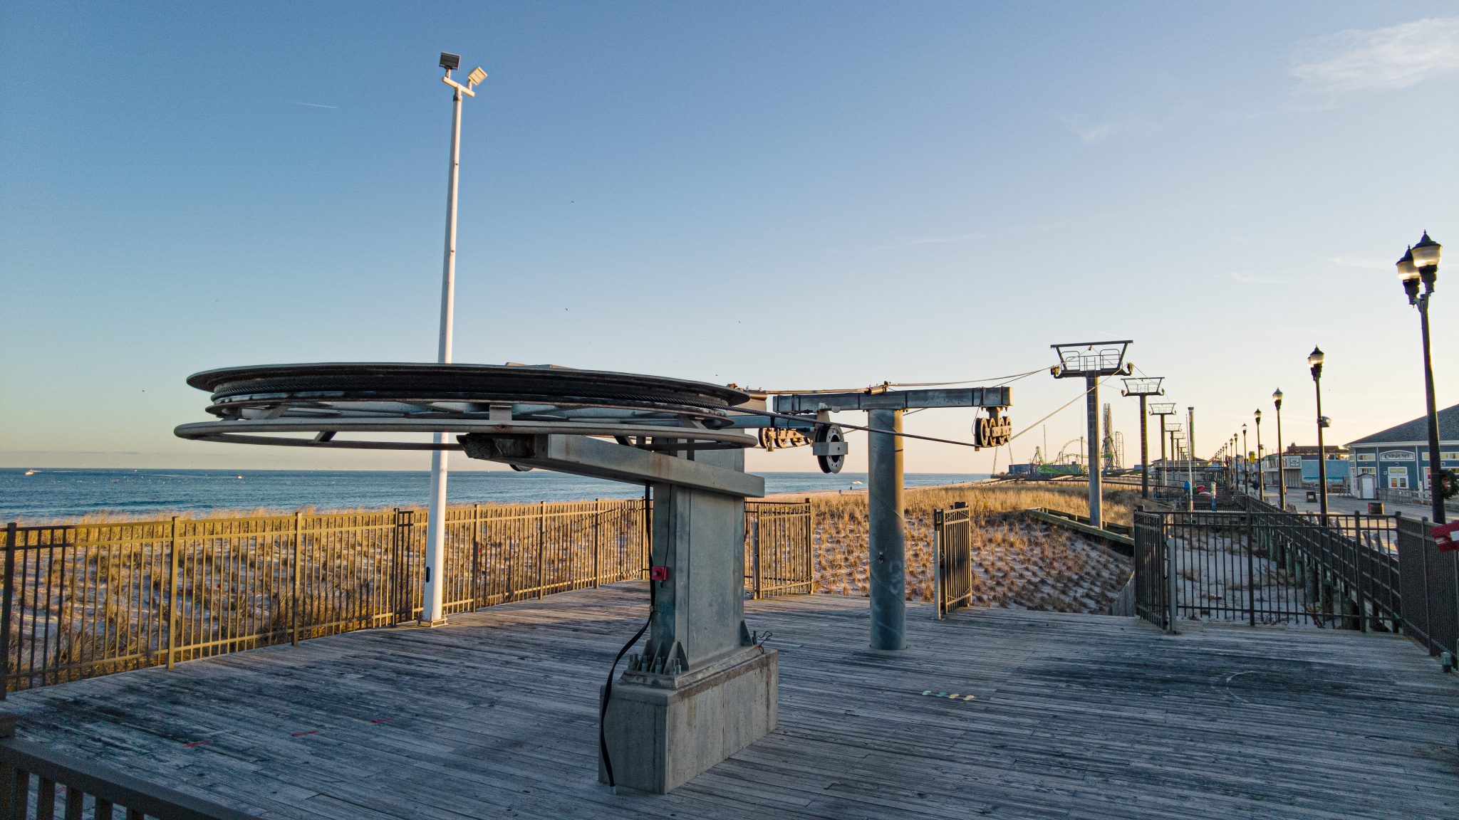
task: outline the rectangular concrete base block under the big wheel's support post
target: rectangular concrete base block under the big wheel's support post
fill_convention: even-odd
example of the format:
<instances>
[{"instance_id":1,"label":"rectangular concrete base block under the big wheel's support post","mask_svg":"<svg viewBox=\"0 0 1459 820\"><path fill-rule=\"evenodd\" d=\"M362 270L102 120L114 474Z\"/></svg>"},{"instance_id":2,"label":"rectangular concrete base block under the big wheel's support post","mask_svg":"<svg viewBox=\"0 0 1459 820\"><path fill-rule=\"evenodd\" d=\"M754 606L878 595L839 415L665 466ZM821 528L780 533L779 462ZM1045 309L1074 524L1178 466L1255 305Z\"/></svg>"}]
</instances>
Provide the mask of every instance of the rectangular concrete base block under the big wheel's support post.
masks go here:
<instances>
[{"instance_id":1,"label":"rectangular concrete base block under the big wheel's support post","mask_svg":"<svg viewBox=\"0 0 1459 820\"><path fill-rule=\"evenodd\" d=\"M773 731L779 692L779 657L763 646L680 676L624 673L604 718L614 781L655 794L678 788ZM608 782L601 759L598 781Z\"/></svg>"}]
</instances>

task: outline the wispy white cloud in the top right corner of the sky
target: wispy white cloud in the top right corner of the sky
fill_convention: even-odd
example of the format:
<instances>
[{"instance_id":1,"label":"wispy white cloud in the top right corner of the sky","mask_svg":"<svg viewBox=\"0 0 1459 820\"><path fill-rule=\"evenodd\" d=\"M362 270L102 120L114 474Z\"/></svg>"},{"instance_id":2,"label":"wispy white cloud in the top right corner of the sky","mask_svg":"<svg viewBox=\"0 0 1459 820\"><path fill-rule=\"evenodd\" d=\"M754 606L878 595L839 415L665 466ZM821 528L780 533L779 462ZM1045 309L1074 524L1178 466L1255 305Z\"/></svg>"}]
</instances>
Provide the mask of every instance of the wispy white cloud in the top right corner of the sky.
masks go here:
<instances>
[{"instance_id":1,"label":"wispy white cloud in the top right corner of the sky","mask_svg":"<svg viewBox=\"0 0 1459 820\"><path fill-rule=\"evenodd\" d=\"M1350 29L1297 44L1291 74L1325 95L1409 88L1459 71L1459 18Z\"/></svg>"}]
</instances>

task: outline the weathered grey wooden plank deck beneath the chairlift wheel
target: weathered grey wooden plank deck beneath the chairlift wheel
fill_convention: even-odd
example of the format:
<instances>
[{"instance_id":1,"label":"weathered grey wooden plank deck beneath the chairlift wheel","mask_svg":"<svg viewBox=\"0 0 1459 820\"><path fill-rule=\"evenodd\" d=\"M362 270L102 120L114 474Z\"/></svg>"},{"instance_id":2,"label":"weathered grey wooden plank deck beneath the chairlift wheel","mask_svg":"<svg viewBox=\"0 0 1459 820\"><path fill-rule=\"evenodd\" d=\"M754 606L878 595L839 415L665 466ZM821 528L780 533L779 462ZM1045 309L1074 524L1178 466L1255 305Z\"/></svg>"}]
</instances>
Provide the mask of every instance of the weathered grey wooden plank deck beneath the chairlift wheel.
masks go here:
<instances>
[{"instance_id":1,"label":"weathered grey wooden plank deck beneath the chairlift wheel","mask_svg":"<svg viewBox=\"0 0 1459 820\"><path fill-rule=\"evenodd\" d=\"M913 607L891 654L865 649L865 598L830 595L747 604L781 649L778 731L614 795L597 687L645 610L624 584L4 708L22 738L267 817L1459 816L1459 681L1404 638Z\"/></svg>"}]
</instances>

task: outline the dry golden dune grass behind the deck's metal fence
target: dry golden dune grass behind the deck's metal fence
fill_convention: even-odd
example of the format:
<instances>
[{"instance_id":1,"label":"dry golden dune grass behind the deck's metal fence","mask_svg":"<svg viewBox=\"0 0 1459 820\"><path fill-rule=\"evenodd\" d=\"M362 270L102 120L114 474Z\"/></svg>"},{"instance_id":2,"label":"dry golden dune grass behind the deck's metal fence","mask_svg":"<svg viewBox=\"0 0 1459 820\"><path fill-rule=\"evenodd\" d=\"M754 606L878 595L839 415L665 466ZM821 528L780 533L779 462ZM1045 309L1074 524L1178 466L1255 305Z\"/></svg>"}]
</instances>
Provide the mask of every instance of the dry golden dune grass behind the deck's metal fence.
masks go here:
<instances>
[{"instance_id":1,"label":"dry golden dune grass behind the deck's metal fence","mask_svg":"<svg viewBox=\"0 0 1459 820\"><path fill-rule=\"evenodd\" d=\"M810 498L816 589L867 595L867 495ZM1106 518L1128 522L1135 498L1109 492ZM1129 578L1123 556L1021 514L1032 506L1080 512L1084 484L953 484L906 493L910 600L932 597L932 512L956 502L972 511L973 606L1102 613ZM537 517L578 506L547 528L547 541L565 547L543 554ZM515 512L481 531L477 559L471 509L454 509L445 568L448 601L460 603L452 611L592 585L600 572L603 582L636 576L643 525L630 508L636 502L610 502L603 514L592 502L492 508L493 518ZM595 519L604 525L605 554L592 570L600 563L591 546ZM23 589L6 664L12 676L26 668L58 674L20 676L12 687L165 662L168 646L187 660L289 641L293 629L312 638L378 626L395 617L401 591L413 600L401 617L419 607L423 521L403 534L392 512L179 515L175 525L171 517L139 522L99 514L70 524L77 530L54 534L66 549L25 550L16 565ZM23 620L22 611L29 613Z\"/></svg>"}]
</instances>

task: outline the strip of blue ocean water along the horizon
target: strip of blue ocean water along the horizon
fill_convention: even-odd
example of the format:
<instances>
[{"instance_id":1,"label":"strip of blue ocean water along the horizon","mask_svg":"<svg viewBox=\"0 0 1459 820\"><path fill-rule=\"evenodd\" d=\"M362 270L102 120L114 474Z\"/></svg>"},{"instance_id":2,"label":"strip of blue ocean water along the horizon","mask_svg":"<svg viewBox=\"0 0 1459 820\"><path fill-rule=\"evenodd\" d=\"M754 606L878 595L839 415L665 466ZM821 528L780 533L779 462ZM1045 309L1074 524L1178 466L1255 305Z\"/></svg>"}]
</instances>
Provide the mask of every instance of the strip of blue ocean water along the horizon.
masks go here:
<instances>
[{"instance_id":1,"label":"strip of blue ocean water along the horizon","mask_svg":"<svg viewBox=\"0 0 1459 820\"><path fill-rule=\"evenodd\" d=\"M763 473L767 493L865 489L865 473ZM986 479L979 473L907 473L906 486ZM638 498L635 484L562 473L451 473L451 503L524 503ZM96 512L150 515L214 509L292 512L423 508L430 473L401 470L0 470L0 521L55 521Z\"/></svg>"}]
</instances>

